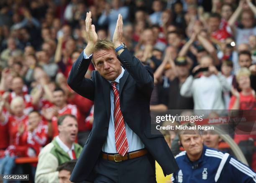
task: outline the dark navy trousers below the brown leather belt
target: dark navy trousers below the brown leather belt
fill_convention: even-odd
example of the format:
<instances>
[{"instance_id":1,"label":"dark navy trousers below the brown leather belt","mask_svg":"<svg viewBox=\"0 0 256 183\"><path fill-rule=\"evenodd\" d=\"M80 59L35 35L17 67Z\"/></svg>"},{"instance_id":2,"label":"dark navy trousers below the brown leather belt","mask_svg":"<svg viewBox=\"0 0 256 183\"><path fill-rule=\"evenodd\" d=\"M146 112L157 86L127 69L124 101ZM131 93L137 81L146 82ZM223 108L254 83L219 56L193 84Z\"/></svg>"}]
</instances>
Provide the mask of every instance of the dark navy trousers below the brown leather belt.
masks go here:
<instances>
[{"instance_id":1,"label":"dark navy trousers below the brown leather belt","mask_svg":"<svg viewBox=\"0 0 256 183\"><path fill-rule=\"evenodd\" d=\"M155 160L149 153L121 162L100 158L94 172L94 183L156 183Z\"/></svg>"}]
</instances>

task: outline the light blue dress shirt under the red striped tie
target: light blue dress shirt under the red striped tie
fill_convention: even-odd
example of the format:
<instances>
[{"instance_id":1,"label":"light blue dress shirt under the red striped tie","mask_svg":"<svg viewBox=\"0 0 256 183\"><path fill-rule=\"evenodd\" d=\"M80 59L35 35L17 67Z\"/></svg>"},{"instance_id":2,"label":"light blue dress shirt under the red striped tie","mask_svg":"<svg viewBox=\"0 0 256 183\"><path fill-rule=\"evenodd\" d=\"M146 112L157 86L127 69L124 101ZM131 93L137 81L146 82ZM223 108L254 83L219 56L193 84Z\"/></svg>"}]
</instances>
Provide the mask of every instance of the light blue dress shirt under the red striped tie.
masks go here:
<instances>
[{"instance_id":1,"label":"light blue dress shirt under the red striped tie","mask_svg":"<svg viewBox=\"0 0 256 183\"><path fill-rule=\"evenodd\" d=\"M92 54L88 57L86 53L84 52L84 58L90 58ZM122 72L121 74L115 79L116 88L119 91L119 80L123 77L124 69L122 67ZM112 81L108 81L111 83ZM115 125L114 125L114 92L113 89L110 86L110 104L111 104L111 109L110 109L110 120L109 120L109 127L108 127L108 135L107 135L107 140L102 146L102 151L107 152L107 153L117 153L116 147L115 147ZM126 132L126 137L128 141L128 152L135 151L135 150L140 150L145 147L141 139L136 135L136 133L131 130L131 128L127 125L125 122L125 132Z\"/></svg>"}]
</instances>

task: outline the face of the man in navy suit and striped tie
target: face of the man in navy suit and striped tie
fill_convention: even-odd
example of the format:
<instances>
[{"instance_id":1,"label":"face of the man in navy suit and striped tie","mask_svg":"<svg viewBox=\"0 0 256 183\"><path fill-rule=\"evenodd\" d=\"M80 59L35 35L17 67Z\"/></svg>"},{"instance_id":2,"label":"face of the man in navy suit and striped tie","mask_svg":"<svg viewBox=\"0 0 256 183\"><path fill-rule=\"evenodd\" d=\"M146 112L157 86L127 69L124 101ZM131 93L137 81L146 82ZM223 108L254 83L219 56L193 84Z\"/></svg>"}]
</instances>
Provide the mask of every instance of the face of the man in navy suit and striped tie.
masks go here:
<instances>
[{"instance_id":1,"label":"face of the man in navy suit and striped tie","mask_svg":"<svg viewBox=\"0 0 256 183\"><path fill-rule=\"evenodd\" d=\"M93 59L95 70L109 81L115 81L122 72L120 61L113 50L97 51L93 53Z\"/></svg>"}]
</instances>

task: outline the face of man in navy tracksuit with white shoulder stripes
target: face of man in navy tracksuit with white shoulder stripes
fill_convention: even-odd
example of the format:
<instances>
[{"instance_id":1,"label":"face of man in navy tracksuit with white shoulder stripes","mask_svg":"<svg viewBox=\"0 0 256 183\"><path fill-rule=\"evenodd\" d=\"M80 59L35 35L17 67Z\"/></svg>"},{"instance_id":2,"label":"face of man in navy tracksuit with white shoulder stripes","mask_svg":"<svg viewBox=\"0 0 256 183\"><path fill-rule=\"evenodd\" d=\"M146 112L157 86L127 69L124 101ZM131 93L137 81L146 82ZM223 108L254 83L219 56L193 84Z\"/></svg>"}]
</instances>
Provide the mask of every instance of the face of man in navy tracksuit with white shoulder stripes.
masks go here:
<instances>
[{"instance_id":1,"label":"face of man in navy tracksuit with white shoulder stripes","mask_svg":"<svg viewBox=\"0 0 256 183\"><path fill-rule=\"evenodd\" d=\"M181 135L181 143L189 156L197 156L202 152L203 140L200 135Z\"/></svg>"}]
</instances>

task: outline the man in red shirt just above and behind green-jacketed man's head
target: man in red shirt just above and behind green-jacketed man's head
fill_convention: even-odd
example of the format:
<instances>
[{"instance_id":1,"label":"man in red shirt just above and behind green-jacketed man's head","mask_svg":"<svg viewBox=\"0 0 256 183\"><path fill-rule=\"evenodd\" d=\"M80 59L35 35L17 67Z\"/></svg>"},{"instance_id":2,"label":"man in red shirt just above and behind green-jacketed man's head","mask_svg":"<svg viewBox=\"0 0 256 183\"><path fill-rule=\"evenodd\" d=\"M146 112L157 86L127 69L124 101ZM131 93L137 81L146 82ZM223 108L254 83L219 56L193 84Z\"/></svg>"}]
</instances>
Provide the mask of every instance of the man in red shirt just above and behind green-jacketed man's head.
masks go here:
<instances>
[{"instance_id":1,"label":"man in red shirt just above and behind green-jacketed man's head","mask_svg":"<svg viewBox=\"0 0 256 183\"><path fill-rule=\"evenodd\" d=\"M62 114L73 114L77 117L77 121L80 120L80 113L76 105L67 104L65 92L61 88L56 88L53 91L53 107L45 109L43 111L44 117L47 120L51 120L52 137L59 135L57 117Z\"/></svg>"}]
</instances>

